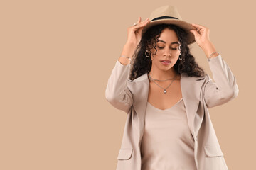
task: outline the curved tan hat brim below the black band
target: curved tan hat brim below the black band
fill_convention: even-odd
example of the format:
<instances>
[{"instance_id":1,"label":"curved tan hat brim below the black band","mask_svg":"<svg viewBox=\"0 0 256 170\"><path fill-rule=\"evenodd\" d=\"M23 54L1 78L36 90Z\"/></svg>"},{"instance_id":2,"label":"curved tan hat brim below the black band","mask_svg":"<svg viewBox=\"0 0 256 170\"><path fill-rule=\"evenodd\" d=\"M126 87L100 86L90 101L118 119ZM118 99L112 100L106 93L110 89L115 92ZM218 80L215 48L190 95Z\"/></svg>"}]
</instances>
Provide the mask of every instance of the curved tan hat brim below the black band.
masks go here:
<instances>
[{"instance_id":1,"label":"curved tan hat brim below the black band","mask_svg":"<svg viewBox=\"0 0 256 170\"><path fill-rule=\"evenodd\" d=\"M177 20L177 19L161 19L159 21L150 21L146 26L144 26L142 30L142 34L146 32L151 26L156 26L161 23L167 23L167 24L174 24L180 28L183 28L188 33L188 45L192 44L193 42L196 42L195 36L193 33L191 33L189 30L196 30L195 27L191 25L191 23L187 23L186 21Z\"/></svg>"}]
</instances>

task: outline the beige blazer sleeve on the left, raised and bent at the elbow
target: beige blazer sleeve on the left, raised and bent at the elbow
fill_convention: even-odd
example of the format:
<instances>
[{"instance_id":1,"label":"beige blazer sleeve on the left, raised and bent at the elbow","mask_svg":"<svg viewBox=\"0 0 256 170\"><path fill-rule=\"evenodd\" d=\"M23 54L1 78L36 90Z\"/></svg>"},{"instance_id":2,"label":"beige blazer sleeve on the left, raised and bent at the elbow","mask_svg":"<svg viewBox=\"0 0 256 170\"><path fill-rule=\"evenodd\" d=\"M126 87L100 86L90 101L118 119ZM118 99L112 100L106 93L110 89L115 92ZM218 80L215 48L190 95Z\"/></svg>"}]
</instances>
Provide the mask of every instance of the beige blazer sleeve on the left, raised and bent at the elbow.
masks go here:
<instances>
[{"instance_id":1,"label":"beige blazer sleeve on the left, raised and bent at the elbow","mask_svg":"<svg viewBox=\"0 0 256 170\"><path fill-rule=\"evenodd\" d=\"M127 87L131 64L123 65L117 60L112 73L107 81L105 97L107 101L119 110L129 113L133 98L132 92Z\"/></svg>"}]
</instances>

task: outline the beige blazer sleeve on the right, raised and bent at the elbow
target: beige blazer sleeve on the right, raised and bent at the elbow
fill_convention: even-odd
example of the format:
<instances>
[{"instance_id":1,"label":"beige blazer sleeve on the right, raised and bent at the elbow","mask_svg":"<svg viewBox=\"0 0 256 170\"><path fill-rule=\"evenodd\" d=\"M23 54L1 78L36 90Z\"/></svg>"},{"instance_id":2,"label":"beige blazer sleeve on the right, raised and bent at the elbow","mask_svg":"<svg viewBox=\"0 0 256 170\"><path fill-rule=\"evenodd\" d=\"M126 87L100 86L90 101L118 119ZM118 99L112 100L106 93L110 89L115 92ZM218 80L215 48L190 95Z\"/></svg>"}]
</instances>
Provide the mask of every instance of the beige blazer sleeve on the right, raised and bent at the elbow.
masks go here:
<instances>
[{"instance_id":1,"label":"beige blazer sleeve on the right, raised and bent at the elbow","mask_svg":"<svg viewBox=\"0 0 256 170\"><path fill-rule=\"evenodd\" d=\"M239 89L234 74L221 55L211 58L208 63L215 82L206 74L203 96L206 106L212 108L233 100L238 96Z\"/></svg>"}]
</instances>

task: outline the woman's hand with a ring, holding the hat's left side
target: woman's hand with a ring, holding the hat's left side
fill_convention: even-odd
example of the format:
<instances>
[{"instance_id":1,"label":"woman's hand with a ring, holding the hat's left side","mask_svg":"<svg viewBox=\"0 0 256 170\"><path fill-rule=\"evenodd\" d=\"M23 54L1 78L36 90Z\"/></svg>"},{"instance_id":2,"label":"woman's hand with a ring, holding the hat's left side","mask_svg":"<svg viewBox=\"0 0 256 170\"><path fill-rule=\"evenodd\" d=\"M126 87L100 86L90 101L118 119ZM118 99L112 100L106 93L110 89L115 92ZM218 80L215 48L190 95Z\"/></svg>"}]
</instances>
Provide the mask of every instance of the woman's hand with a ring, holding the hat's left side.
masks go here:
<instances>
[{"instance_id":1,"label":"woman's hand with a ring, holding the hat's left side","mask_svg":"<svg viewBox=\"0 0 256 170\"><path fill-rule=\"evenodd\" d=\"M139 16L137 25L127 28L127 32L128 32L127 44L133 45L134 47L137 47L137 45L139 45L140 40L142 39L142 30L144 26L150 23L149 18L146 18L146 20L142 22L141 20L142 18Z\"/></svg>"}]
</instances>

